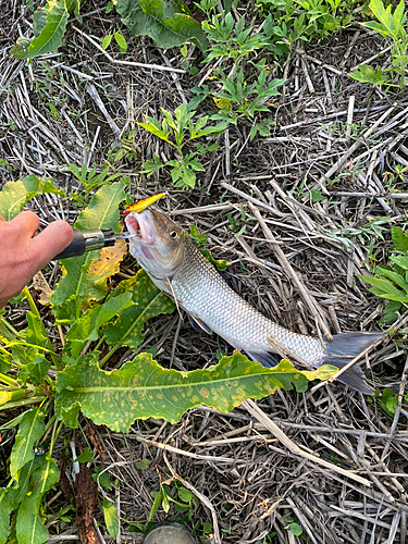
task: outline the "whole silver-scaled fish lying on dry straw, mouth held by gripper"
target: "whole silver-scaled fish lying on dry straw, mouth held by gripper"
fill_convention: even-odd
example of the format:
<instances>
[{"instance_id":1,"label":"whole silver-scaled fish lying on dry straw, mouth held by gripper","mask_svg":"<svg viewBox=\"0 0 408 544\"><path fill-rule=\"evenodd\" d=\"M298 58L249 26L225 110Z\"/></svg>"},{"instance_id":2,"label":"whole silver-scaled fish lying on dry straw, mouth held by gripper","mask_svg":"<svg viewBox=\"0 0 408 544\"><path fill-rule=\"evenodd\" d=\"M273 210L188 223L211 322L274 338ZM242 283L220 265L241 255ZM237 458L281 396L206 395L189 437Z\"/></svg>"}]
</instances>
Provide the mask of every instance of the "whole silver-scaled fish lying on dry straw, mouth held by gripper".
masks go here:
<instances>
[{"instance_id":1,"label":"whole silver-scaled fish lying on dry straw, mouth held by gripper","mask_svg":"<svg viewBox=\"0 0 408 544\"><path fill-rule=\"evenodd\" d=\"M235 293L197 245L164 213L144 209L125 211L131 234L129 252L153 284L183 308L198 331L215 333L231 346L264 367L293 354L308 367L333 364L342 369L354 357L384 337L381 332L349 332L332 341L289 331L255 309ZM338 381L373 395L362 370L353 366Z\"/></svg>"}]
</instances>

